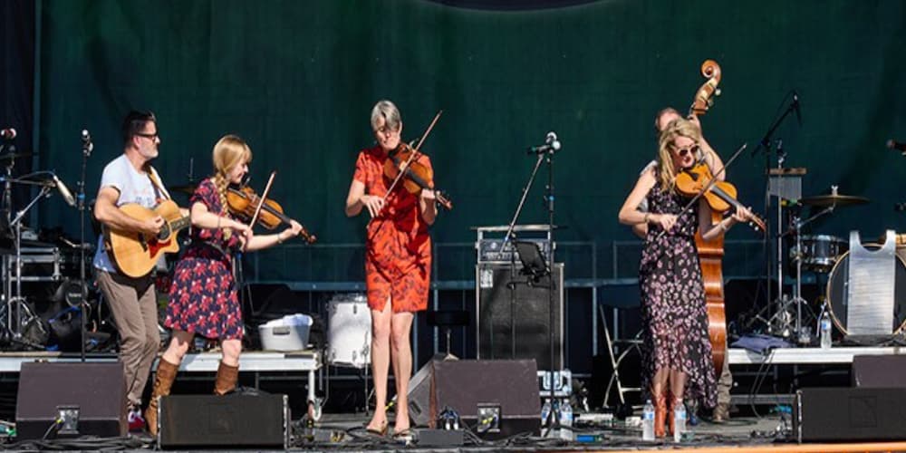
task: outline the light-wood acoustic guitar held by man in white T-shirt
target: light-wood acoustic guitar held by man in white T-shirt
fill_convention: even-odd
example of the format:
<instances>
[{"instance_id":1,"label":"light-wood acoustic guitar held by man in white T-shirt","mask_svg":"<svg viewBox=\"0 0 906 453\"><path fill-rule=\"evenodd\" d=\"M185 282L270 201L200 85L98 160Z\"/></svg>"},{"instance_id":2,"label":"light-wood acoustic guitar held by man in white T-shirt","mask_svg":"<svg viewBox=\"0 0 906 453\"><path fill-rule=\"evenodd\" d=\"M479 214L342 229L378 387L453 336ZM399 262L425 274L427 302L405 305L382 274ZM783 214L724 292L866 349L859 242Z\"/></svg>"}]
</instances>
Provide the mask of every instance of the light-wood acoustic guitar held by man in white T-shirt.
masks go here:
<instances>
[{"instance_id":1,"label":"light-wood acoustic guitar held by man in white T-shirt","mask_svg":"<svg viewBox=\"0 0 906 453\"><path fill-rule=\"evenodd\" d=\"M173 200L164 200L157 207L149 209L129 203L120 206L120 211L137 220L163 217L164 226L157 236L136 231L125 231L104 226L104 246L120 273L130 277L148 275L157 265L160 256L179 251L177 233L190 225L188 216L183 216Z\"/></svg>"}]
</instances>

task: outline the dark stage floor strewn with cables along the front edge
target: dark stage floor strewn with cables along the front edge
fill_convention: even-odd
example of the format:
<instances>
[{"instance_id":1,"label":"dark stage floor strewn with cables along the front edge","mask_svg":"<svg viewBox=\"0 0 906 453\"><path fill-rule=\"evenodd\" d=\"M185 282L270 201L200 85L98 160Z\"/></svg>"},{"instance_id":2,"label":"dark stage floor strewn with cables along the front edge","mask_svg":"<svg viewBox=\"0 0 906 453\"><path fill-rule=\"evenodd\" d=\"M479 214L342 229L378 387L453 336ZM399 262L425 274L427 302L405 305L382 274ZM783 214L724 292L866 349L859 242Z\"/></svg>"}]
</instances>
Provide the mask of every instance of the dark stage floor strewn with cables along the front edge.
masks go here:
<instances>
[{"instance_id":1,"label":"dark stage floor strewn with cables along the front edge","mask_svg":"<svg viewBox=\"0 0 906 453\"><path fill-rule=\"evenodd\" d=\"M515 436L509 439L483 440L467 433L461 446L439 447L420 444L419 429L410 439L377 436L362 427L368 421L365 414L324 414L313 429L306 429L302 420L294 422L294 437L290 450L342 451L733 451L733 452L856 452L906 451L904 442L875 442L851 444L796 444L786 440L781 427L788 427L781 416L734 418L723 424L701 421L692 427L690 439L674 443L672 439L655 442L641 440L641 429L627 427L622 422L592 424L583 419L602 419L602 414L577 414L574 435L592 439L586 442L567 441L555 437ZM788 419L788 417L787 417ZM116 448L130 451L155 449L154 440L147 435L131 435L127 439L58 440L20 444L0 444L3 449L98 449ZM262 448L250 448L265 451ZM205 451L205 448L190 451ZM211 446L207 451L225 451ZM281 449L282 450L282 449ZM173 450L169 450L173 451ZM177 450L178 451L178 450ZM247 451L247 449L246 449ZM275 450L279 451L279 450Z\"/></svg>"}]
</instances>

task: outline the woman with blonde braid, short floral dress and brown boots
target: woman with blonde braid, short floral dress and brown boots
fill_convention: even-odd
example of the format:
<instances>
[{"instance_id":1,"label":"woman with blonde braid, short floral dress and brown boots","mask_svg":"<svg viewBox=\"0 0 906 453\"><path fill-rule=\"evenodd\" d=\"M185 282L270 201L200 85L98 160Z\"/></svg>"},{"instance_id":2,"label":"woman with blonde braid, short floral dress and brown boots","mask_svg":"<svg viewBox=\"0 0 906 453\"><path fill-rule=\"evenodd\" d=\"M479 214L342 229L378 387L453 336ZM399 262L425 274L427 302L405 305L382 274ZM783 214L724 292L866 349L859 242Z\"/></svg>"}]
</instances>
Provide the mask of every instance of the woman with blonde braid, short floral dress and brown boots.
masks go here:
<instances>
[{"instance_id":1,"label":"woman with blonde braid, short floral dress and brown boots","mask_svg":"<svg viewBox=\"0 0 906 453\"><path fill-rule=\"evenodd\" d=\"M194 226L192 243L173 273L164 322L172 330L172 338L160 358L145 411L152 435L157 432L158 397L169 394L179 363L196 334L220 342L223 357L217 368L214 393L223 395L236 388L244 327L233 276L236 252L276 246L302 230L293 221L278 234L255 236L250 226L230 214L226 188L242 181L251 160L252 150L246 142L226 135L214 145L214 176L202 181L189 198Z\"/></svg>"}]
</instances>

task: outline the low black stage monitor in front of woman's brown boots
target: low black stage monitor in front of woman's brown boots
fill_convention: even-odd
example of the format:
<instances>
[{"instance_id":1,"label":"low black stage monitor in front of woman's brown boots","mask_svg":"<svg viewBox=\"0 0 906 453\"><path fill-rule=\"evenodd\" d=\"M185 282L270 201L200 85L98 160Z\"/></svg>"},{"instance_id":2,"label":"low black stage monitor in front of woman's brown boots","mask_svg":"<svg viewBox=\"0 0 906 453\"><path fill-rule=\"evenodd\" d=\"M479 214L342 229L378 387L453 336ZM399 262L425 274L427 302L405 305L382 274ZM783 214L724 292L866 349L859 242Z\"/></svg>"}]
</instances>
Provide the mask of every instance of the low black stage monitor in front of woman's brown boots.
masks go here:
<instances>
[{"instance_id":1,"label":"low black stage monitor in front of woman's brown boots","mask_svg":"<svg viewBox=\"0 0 906 453\"><path fill-rule=\"evenodd\" d=\"M160 448L289 448L286 395L171 395L160 399Z\"/></svg>"}]
</instances>

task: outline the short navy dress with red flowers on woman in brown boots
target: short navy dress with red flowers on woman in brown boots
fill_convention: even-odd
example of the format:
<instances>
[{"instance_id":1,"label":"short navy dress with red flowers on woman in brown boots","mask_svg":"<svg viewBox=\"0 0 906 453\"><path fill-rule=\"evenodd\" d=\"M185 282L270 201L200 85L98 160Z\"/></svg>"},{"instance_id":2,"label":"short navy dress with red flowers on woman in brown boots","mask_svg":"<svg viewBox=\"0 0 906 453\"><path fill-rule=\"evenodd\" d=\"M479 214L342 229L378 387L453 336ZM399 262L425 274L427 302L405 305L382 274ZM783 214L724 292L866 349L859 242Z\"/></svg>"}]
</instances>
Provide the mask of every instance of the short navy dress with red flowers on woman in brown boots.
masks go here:
<instances>
[{"instance_id":1,"label":"short navy dress with red flowers on woman in brown boots","mask_svg":"<svg viewBox=\"0 0 906 453\"><path fill-rule=\"evenodd\" d=\"M189 206L195 203L204 203L208 212L231 217L224 212L217 187L209 178L189 198ZM193 228L191 236L192 244L173 271L164 325L212 339L242 339L242 311L233 277L239 235L227 239L223 228Z\"/></svg>"}]
</instances>

